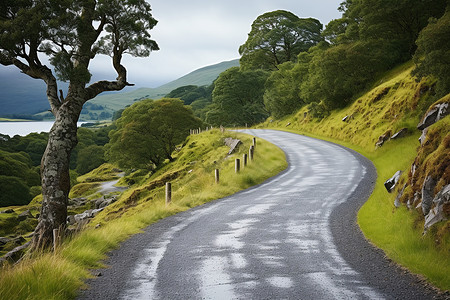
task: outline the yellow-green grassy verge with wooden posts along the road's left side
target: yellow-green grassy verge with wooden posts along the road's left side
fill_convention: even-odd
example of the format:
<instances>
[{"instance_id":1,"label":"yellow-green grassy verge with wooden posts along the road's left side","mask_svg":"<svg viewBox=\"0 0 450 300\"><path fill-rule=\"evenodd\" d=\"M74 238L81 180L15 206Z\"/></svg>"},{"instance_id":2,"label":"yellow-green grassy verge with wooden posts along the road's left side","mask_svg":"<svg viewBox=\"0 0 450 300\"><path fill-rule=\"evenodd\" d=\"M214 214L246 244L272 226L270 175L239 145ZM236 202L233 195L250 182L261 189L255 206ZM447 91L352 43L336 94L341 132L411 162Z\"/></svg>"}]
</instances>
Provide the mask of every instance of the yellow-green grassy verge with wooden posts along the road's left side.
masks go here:
<instances>
[{"instance_id":1,"label":"yellow-green grassy verge with wooden posts along the road's left side","mask_svg":"<svg viewBox=\"0 0 450 300\"><path fill-rule=\"evenodd\" d=\"M239 137L244 144L237 154L227 156L223 138ZM251 137L214 130L189 137L185 147L156 174L148 175L132 186L120 199L100 213L83 231L67 238L56 253L35 254L18 265L0 270L0 295L5 299L72 299L91 277L89 269L102 267L108 251L120 242L158 220L231 195L261 183L287 167L284 153L263 140L257 141L254 161L234 172L234 159L248 151ZM191 145L191 146L189 146ZM197 160L192 164L192 159ZM214 169L220 169L220 183L214 181ZM163 187L147 190L158 178L175 171L180 175L172 181L172 203L165 204ZM192 170L191 172L189 172ZM141 191L143 190L143 191ZM132 194L137 195L130 203ZM97 228L94 225L100 224Z\"/></svg>"}]
</instances>

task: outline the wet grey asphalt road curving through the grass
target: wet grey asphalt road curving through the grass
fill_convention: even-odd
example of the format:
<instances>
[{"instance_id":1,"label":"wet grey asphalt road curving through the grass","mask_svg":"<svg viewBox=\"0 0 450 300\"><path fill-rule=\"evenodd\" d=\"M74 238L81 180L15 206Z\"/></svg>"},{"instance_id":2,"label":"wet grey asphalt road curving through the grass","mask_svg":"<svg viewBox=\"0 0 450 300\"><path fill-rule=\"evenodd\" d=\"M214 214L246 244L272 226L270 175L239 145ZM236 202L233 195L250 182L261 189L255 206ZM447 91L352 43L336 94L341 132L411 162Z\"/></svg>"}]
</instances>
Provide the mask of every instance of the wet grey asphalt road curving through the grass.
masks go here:
<instances>
[{"instance_id":1,"label":"wet grey asphalt road curving through the grass","mask_svg":"<svg viewBox=\"0 0 450 300\"><path fill-rule=\"evenodd\" d=\"M149 226L110 254L79 299L445 298L359 231L356 212L376 179L369 161L301 135L245 132L282 148L288 169Z\"/></svg>"}]
</instances>

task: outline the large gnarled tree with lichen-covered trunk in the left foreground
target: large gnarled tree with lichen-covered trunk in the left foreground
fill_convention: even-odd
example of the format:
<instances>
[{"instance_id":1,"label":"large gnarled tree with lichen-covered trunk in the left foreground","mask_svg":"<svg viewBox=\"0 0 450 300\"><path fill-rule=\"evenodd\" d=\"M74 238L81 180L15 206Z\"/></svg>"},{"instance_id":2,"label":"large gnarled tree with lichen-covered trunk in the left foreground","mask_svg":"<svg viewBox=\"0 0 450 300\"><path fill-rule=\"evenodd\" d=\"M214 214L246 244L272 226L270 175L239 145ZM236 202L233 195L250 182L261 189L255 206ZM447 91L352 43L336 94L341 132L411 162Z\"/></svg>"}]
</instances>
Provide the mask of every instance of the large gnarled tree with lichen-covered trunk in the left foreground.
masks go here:
<instances>
[{"instance_id":1,"label":"large gnarled tree with lichen-covered trunk in the left foreground","mask_svg":"<svg viewBox=\"0 0 450 300\"><path fill-rule=\"evenodd\" d=\"M1 1L0 63L43 80L55 116L41 162L43 201L34 249L48 246L53 229L65 227L69 158L83 105L104 91L132 85L123 55L148 56L158 50L149 33L156 23L144 0ZM111 57L116 80L90 83L89 65L98 54ZM57 77L69 82L65 96L58 93Z\"/></svg>"}]
</instances>

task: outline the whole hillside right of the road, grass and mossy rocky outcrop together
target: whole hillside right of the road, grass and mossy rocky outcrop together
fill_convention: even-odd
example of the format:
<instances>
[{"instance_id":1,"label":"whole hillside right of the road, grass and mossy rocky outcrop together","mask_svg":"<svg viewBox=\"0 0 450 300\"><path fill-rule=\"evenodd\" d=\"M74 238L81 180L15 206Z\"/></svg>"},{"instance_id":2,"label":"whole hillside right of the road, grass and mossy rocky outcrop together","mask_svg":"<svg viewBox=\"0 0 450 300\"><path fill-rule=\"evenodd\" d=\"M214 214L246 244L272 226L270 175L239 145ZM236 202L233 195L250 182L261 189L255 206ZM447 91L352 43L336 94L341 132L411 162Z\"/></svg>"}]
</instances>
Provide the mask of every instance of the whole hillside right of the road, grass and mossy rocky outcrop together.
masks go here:
<instances>
[{"instance_id":1,"label":"whole hillside right of the road, grass and mossy rocky outcrop together","mask_svg":"<svg viewBox=\"0 0 450 300\"><path fill-rule=\"evenodd\" d=\"M450 116L445 107L450 95L435 102L435 81L417 82L413 68L407 63L388 72L351 105L323 119L304 107L258 127L330 140L370 158L378 179L358 214L363 233L389 258L448 290ZM441 119L422 132L419 123L436 107L444 107ZM397 171L401 176L388 192L385 182Z\"/></svg>"}]
</instances>

